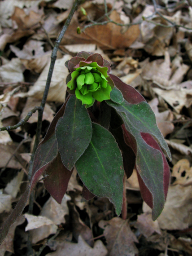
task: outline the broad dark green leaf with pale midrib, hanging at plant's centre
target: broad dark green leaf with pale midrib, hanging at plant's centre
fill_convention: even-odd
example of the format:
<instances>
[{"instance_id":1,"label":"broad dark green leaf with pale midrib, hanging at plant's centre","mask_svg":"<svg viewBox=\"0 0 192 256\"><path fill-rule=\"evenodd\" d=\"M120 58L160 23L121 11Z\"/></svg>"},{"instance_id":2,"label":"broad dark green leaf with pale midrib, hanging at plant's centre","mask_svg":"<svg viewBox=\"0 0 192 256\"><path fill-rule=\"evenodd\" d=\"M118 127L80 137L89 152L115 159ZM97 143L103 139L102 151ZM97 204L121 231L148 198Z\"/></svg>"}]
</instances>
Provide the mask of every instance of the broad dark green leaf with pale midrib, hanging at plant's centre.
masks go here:
<instances>
[{"instance_id":1,"label":"broad dark green leaf with pale midrib, hanging at plant's centre","mask_svg":"<svg viewBox=\"0 0 192 256\"><path fill-rule=\"evenodd\" d=\"M119 216L124 175L122 155L108 130L94 123L92 128L92 140L75 167L87 189L96 196L109 198Z\"/></svg>"}]
</instances>

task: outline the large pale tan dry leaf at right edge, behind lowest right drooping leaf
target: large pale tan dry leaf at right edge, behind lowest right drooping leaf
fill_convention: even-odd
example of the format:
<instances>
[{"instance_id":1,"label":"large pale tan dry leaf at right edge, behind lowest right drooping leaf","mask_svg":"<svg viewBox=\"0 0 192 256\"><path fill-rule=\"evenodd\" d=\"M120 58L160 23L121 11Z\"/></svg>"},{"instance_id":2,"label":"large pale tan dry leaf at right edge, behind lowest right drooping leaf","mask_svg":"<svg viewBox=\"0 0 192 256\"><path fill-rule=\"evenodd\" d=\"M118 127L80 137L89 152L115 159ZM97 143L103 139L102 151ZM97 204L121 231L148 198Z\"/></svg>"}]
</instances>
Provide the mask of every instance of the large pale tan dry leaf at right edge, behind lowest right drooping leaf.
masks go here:
<instances>
[{"instance_id":1,"label":"large pale tan dry leaf at right edge, behind lowest right drooping leaf","mask_svg":"<svg viewBox=\"0 0 192 256\"><path fill-rule=\"evenodd\" d=\"M166 203L161 215L157 218L164 230L183 230L192 225L192 186L170 185ZM146 203L143 212L151 212Z\"/></svg>"}]
</instances>

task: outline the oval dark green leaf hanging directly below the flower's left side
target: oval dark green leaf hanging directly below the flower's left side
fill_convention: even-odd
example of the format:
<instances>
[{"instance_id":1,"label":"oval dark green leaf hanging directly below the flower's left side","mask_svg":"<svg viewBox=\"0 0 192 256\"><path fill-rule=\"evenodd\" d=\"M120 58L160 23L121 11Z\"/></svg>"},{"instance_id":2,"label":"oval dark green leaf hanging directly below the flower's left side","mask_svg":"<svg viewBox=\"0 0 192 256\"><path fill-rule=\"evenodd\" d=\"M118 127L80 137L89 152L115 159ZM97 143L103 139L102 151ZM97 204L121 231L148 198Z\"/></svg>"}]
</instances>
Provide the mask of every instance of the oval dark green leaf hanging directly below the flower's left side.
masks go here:
<instances>
[{"instance_id":1,"label":"oval dark green leaf hanging directly below the flower's left side","mask_svg":"<svg viewBox=\"0 0 192 256\"><path fill-rule=\"evenodd\" d=\"M62 162L71 170L92 137L91 119L85 106L75 96L70 97L65 113L57 123L56 137Z\"/></svg>"}]
</instances>

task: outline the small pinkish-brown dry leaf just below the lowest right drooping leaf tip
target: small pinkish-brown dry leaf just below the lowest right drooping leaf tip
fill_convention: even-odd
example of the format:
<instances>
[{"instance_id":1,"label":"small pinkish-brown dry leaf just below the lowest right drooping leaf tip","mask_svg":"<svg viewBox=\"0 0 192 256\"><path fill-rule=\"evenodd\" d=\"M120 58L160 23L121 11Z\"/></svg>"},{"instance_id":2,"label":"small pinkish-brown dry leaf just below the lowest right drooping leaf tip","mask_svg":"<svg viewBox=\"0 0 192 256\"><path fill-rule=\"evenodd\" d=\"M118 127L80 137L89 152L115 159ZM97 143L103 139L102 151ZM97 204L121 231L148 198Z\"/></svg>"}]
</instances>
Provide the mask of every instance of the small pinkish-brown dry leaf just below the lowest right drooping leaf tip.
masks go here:
<instances>
[{"instance_id":1,"label":"small pinkish-brown dry leaf just below the lowest right drooping leaf tip","mask_svg":"<svg viewBox=\"0 0 192 256\"><path fill-rule=\"evenodd\" d=\"M134 226L139 229L140 233L146 238L151 236L154 232L161 234L158 221L152 221L151 214L148 212L138 215Z\"/></svg>"}]
</instances>

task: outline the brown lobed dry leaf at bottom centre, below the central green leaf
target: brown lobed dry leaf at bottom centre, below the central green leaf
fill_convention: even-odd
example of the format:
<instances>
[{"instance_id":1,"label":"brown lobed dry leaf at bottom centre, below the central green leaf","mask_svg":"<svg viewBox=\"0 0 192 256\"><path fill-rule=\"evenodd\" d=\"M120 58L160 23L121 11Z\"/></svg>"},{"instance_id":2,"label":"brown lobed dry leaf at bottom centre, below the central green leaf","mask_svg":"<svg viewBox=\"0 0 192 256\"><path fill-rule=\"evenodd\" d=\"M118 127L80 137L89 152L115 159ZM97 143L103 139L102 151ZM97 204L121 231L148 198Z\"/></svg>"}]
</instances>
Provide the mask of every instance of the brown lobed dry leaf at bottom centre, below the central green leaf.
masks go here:
<instances>
[{"instance_id":1,"label":"brown lobed dry leaf at bottom centre, below the central green leaf","mask_svg":"<svg viewBox=\"0 0 192 256\"><path fill-rule=\"evenodd\" d=\"M138 240L127 220L114 217L110 221L100 221L99 226L104 229L109 256L135 256L139 252L134 243Z\"/></svg>"}]
</instances>

